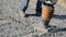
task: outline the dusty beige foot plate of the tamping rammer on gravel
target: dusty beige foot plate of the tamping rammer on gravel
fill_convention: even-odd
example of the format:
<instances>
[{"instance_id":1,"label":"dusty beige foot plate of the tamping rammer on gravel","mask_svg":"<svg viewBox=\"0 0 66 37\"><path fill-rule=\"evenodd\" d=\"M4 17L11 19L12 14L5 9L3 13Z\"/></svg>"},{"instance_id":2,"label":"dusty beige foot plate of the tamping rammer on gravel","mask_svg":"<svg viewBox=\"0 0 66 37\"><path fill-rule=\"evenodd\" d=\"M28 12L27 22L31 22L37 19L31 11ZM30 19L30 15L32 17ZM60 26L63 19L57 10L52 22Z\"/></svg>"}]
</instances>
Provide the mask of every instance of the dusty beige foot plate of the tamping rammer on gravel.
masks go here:
<instances>
[{"instance_id":1,"label":"dusty beige foot plate of the tamping rammer on gravel","mask_svg":"<svg viewBox=\"0 0 66 37\"><path fill-rule=\"evenodd\" d=\"M45 33L48 33L48 30L45 29L45 27L42 23L33 24L33 28L38 33L38 35L43 35Z\"/></svg>"}]
</instances>

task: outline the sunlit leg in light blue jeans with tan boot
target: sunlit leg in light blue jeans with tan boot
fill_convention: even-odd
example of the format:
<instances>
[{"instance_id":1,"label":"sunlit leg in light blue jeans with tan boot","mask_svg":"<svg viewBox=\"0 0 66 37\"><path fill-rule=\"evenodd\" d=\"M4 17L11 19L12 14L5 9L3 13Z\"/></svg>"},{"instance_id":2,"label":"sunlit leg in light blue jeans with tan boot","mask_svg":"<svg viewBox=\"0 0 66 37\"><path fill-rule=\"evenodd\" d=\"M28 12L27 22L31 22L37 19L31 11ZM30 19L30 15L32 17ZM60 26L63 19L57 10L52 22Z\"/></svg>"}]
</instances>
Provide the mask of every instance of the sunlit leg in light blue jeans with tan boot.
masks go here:
<instances>
[{"instance_id":1,"label":"sunlit leg in light blue jeans with tan boot","mask_svg":"<svg viewBox=\"0 0 66 37\"><path fill-rule=\"evenodd\" d=\"M29 1L30 1L30 0L22 0L21 7L20 7L20 15L21 15L22 17L25 16L25 11L26 11L26 9L28 9Z\"/></svg>"}]
</instances>

